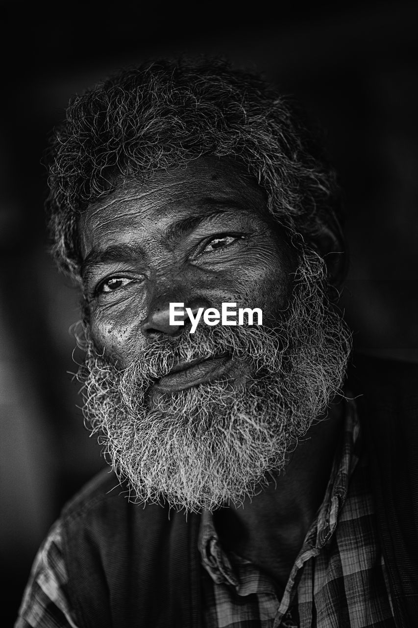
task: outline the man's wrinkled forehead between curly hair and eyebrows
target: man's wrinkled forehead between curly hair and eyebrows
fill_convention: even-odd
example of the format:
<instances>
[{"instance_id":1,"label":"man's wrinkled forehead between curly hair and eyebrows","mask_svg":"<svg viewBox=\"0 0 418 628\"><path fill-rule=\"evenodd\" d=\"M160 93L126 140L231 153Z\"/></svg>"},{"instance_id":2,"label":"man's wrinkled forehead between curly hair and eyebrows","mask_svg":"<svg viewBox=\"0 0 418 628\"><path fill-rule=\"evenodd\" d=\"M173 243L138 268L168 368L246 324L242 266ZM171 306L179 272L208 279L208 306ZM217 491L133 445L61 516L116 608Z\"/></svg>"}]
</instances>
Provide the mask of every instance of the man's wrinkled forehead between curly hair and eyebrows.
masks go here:
<instances>
[{"instance_id":1,"label":"man's wrinkled forehead between curly hair and eyebrows","mask_svg":"<svg viewBox=\"0 0 418 628\"><path fill-rule=\"evenodd\" d=\"M232 160L200 158L186 168L157 171L150 180L126 181L82 214L78 234L83 257L100 244L129 230L147 234L166 230L178 220L219 212L267 213L265 193L244 166ZM133 236L133 234L132 234Z\"/></svg>"}]
</instances>

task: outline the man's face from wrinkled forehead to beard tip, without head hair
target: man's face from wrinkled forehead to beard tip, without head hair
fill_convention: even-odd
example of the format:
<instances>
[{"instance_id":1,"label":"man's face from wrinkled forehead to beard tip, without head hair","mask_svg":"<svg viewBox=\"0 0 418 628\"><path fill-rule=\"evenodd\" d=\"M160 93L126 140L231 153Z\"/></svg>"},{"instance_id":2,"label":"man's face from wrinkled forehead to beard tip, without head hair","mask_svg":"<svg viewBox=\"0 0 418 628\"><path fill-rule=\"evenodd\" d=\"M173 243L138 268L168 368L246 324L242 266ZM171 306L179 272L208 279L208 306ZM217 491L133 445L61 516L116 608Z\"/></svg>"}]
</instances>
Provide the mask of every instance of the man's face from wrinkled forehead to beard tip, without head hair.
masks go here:
<instances>
[{"instance_id":1,"label":"man's face from wrinkled forehead to beard tip, without head hair","mask_svg":"<svg viewBox=\"0 0 418 628\"><path fill-rule=\"evenodd\" d=\"M279 470L340 386L346 332L318 259L297 259L230 161L130 182L80 219L86 406L145 501L237 502ZM261 308L263 326L172 327L169 303Z\"/></svg>"}]
</instances>

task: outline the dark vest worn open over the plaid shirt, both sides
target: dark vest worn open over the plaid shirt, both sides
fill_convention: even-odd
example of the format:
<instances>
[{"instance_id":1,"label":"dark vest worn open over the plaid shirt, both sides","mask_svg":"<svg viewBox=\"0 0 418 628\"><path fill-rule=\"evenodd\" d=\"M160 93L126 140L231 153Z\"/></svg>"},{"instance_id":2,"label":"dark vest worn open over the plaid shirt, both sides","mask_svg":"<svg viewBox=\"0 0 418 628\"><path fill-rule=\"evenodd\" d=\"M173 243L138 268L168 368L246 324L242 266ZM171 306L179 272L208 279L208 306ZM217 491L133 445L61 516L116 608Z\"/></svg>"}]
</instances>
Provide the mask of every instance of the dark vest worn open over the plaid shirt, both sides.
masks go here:
<instances>
[{"instance_id":1,"label":"dark vest worn open over the plaid shirt, both sides","mask_svg":"<svg viewBox=\"0 0 418 628\"><path fill-rule=\"evenodd\" d=\"M418 625L418 365L356 356L378 533L398 628ZM359 396L360 395L360 396ZM199 628L200 517L129 502L102 472L63 509L68 595L80 628Z\"/></svg>"}]
</instances>

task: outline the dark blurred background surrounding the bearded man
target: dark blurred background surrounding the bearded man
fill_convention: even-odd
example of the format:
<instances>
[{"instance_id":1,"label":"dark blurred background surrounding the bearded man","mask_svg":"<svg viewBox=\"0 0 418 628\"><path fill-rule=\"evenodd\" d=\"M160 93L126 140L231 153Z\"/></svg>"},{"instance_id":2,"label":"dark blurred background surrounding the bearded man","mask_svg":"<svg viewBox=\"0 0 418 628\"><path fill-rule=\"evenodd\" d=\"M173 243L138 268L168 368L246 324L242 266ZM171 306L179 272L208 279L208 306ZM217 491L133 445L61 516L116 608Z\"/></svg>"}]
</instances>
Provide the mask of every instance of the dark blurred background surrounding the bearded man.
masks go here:
<instances>
[{"instance_id":1,"label":"dark blurred background surrounding the bearded man","mask_svg":"<svg viewBox=\"0 0 418 628\"><path fill-rule=\"evenodd\" d=\"M47 253L40 160L70 95L149 57L258 69L326 130L345 190L343 293L358 349L418 360L417 3L0 3L0 557L3 625L60 507L104 467L72 373L78 294Z\"/></svg>"}]
</instances>

